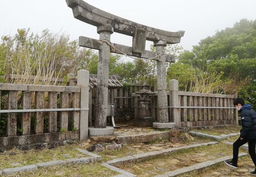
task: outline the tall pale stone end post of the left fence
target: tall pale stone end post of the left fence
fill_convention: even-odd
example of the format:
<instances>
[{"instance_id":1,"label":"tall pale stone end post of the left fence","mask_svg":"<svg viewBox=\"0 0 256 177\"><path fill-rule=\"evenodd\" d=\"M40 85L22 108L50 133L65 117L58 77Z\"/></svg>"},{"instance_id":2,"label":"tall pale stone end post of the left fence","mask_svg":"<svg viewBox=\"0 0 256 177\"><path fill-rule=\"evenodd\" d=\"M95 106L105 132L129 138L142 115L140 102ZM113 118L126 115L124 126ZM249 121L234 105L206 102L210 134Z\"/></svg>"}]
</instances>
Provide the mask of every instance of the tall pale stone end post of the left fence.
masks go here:
<instances>
[{"instance_id":1,"label":"tall pale stone end post of the left fence","mask_svg":"<svg viewBox=\"0 0 256 177\"><path fill-rule=\"evenodd\" d=\"M80 107L89 107L89 71L79 70L77 72L77 87L81 87ZM88 110L80 111L80 141L88 138Z\"/></svg>"}]
</instances>

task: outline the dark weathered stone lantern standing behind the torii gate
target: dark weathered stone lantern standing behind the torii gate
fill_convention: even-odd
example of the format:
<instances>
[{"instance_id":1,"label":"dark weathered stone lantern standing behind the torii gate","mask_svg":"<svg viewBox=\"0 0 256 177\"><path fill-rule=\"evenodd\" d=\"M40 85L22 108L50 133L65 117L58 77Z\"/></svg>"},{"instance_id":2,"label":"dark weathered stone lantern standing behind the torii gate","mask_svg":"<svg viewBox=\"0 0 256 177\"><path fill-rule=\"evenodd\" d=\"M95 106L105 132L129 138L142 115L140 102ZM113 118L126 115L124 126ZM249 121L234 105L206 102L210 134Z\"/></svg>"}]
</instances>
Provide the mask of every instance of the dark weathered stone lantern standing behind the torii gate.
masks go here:
<instances>
[{"instance_id":1,"label":"dark weathered stone lantern standing behind the torii gate","mask_svg":"<svg viewBox=\"0 0 256 177\"><path fill-rule=\"evenodd\" d=\"M143 89L135 92L136 94L140 94L138 103L138 115L135 115L135 120L133 125L139 127L151 127L154 122L154 118L151 117L150 111L148 109L148 104L150 103L151 99L149 98L150 94L155 94L151 90L148 90L147 85L143 85Z\"/></svg>"}]
</instances>

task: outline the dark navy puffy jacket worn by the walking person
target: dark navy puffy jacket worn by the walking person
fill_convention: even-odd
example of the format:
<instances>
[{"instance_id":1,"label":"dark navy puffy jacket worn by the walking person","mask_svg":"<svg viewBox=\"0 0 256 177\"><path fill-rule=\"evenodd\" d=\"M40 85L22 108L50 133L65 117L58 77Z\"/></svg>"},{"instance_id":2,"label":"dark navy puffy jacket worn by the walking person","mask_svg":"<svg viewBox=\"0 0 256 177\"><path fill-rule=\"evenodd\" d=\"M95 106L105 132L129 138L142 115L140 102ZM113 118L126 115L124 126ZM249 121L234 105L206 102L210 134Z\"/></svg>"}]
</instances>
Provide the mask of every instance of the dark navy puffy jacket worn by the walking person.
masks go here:
<instances>
[{"instance_id":1,"label":"dark navy puffy jacket worn by the walking person","mask_svg":"<svg viewBox=\"0 0 256 177\"><path fill-rule=\"evenodd\" d=\"M250 104L243 105L241 112L241 138L256 138L256 112Z\"/></svg>"}]
</instances>

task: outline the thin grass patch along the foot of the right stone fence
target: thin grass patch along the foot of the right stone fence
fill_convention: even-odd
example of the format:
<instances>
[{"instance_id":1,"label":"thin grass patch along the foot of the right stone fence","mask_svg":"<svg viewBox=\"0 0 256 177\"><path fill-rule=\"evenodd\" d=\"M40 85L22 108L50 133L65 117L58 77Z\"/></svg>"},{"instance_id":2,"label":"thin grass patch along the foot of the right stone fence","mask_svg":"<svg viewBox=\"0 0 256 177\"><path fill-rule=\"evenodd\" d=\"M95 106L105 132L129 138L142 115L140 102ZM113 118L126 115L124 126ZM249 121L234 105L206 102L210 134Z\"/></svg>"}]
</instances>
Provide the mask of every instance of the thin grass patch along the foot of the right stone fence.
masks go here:
<instances>
[{"instance_id":1,"label":"thin grass patch along the foot of the right stone fence","mask_svg":"<svg viewBox=\"0 0 256 177\"><path fill-rule=\"evenodd\" d=\"M220 127L220 128L210 128L210 129L194 129L193 131L206 133L209 135L222 135L222 134L230 134L230 133L237 133L240 132L241 126L234 125L234 126L227 126L227 127Z\"/></svg>"}]
</instances>

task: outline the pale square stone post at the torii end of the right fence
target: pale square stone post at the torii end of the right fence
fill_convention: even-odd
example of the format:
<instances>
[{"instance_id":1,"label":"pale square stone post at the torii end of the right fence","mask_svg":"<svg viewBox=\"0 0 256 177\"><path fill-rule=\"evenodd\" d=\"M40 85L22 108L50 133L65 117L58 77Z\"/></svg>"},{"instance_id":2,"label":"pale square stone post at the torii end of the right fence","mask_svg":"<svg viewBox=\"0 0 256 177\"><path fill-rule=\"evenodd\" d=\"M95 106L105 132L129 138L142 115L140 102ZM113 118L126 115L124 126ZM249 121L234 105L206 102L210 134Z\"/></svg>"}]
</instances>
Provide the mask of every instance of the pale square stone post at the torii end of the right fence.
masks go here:
<instances>
[{"instance_id":1,"label":"pale square stone post at the torii end of the right fence","mask_svg":"<svg viewBox=\"0 0 256 177\"><path fill-rule=\"evenodd\" d=\"M171 79L169 81L170 88L170 121L175 123L175 127L179 128L180 118L179 118L179 97L178 97L178 80Z\"/></svg>"}]
</instances>

